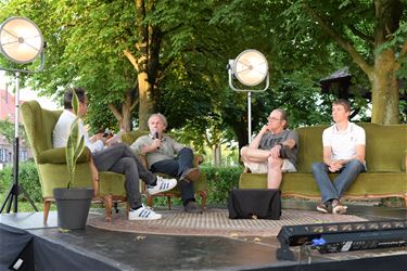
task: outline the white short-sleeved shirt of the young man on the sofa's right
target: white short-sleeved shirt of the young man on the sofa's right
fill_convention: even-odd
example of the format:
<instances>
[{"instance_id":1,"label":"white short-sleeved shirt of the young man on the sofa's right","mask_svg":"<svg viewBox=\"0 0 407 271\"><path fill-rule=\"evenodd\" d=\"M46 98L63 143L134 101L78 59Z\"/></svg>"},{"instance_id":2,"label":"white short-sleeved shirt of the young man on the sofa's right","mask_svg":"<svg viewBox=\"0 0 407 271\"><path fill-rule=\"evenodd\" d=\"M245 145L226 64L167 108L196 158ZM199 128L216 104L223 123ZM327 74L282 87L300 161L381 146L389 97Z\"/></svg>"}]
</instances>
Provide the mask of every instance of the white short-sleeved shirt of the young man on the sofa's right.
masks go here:
<instances>
[{"instance_id":1,"label":"white short-sleeved shirt of the young man on the sofa's right","mask_svg":"<svg viewBox=\"0 0 407 271\"><path fill-rule=\"evenodd\" d=\"M357 145L366 145L365 129L352 122L347 122L344 131L339 131L336 125L323 130L323 147L331 147L331 159L349 159L356 155Z\"/></svg>"}]
</instances>

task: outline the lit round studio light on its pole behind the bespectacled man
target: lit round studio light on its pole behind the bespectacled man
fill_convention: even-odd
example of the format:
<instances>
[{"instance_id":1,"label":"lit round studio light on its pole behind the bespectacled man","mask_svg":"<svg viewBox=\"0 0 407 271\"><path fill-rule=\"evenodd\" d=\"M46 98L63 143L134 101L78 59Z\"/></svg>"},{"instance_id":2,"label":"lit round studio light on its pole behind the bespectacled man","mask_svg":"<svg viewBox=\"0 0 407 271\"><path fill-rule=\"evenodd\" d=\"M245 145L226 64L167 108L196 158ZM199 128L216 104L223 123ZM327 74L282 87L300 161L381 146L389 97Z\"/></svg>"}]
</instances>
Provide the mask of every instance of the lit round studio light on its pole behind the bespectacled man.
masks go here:
<instances>
[{"instance_id":1,"label":"lit round studio light on its pole behind the bespectacled man","mask_svg":"<svg viewBox=\"0 0 407 271\"><path fill-rule=\"evenodd\" d=\"M229 60L228 65L229 87L237 92L247 92L247 133L249 143L252 142L252 92L263 92L269 86L269 73L267 60L263 53L254 49L247 49L241 52L236 60ZM244 86L240 89L233 85L238 79ZM255 87L266 80L263 89ZM246 89L245 87L250 87Z\"/></svg>"}]
</instances>

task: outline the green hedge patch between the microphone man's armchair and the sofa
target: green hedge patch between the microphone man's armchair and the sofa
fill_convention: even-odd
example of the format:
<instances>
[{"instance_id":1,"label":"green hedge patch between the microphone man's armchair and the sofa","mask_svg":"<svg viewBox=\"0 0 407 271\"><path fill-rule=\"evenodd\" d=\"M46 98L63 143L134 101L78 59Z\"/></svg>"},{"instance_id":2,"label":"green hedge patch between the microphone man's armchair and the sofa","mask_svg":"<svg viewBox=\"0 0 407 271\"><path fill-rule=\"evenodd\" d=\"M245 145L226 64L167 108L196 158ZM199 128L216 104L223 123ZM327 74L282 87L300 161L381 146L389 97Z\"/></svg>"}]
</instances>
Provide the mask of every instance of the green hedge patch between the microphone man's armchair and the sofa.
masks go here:
<instances>
[{"instance_id":1,"label":"green hedge patch between the microphone man's armchair and the sofa","mask_svg":"<svg viewBox=\"0 0 407 271\"><path fill-rule=\"evenodd\" d=\"M208 203L226 204L229 191L239 186L239 178L243 172L241 167L202 167L208 181Z\"/></svg>"}]
</instances>

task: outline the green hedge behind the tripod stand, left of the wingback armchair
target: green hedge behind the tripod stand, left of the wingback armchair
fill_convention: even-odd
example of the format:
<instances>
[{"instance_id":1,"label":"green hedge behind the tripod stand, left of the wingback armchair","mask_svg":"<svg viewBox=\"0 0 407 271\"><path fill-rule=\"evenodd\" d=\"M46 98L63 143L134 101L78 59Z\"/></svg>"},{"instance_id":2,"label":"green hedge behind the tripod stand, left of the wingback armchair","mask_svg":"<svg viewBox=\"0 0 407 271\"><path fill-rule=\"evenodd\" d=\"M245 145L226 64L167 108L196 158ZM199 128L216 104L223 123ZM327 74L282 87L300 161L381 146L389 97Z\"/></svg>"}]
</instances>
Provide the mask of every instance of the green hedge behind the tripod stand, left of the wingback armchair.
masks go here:
<instances>
[{"instance_id":1,"label":"green hedge behind the tripod stand, left of the wingback armchair","mask_svg":"<svg viewBox=\"0 0 407 271\"><path fill-rule=\"evenodd\" d=\"M0 171L0 193L8 193L12 183L13 167L5 167ZM33 160L18 164L18 183L24 188L35 203L42 202L41 185L39 182L37 167ZM23 199L23 195L18 196L18 201L20 198Z\"/></svg>"}]
</instances>

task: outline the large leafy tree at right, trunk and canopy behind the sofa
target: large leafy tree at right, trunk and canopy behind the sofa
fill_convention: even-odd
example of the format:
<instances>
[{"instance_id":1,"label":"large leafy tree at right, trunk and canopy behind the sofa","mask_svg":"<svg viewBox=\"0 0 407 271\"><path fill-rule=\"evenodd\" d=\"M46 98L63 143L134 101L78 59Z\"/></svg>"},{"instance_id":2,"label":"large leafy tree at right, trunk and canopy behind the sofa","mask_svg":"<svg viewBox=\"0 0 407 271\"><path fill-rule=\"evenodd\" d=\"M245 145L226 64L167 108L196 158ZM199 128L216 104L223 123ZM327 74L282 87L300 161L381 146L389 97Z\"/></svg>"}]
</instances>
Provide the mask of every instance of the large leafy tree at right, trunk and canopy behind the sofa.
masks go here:
<instances>
[{"instance_id":1,"label":"large leafy tree at right, trunk and canopy behind the sofa","mask_svg":"<svg viewBox=\"0 0 407 271\"><path fill-rule=\"evenodd\" d=\"M399 0L234 0L214 20L238 29L256 25L253 35L278 48L268 51L275 52L269 54L277 62L274 72L302 69L304 77L317 79L348 65L356 83L371 86L371 120L396 124L398 79L405 74L406 7Z\"/></svg>"}]
</instances>

